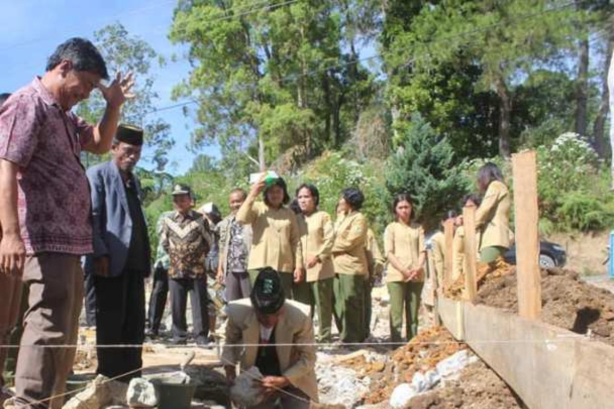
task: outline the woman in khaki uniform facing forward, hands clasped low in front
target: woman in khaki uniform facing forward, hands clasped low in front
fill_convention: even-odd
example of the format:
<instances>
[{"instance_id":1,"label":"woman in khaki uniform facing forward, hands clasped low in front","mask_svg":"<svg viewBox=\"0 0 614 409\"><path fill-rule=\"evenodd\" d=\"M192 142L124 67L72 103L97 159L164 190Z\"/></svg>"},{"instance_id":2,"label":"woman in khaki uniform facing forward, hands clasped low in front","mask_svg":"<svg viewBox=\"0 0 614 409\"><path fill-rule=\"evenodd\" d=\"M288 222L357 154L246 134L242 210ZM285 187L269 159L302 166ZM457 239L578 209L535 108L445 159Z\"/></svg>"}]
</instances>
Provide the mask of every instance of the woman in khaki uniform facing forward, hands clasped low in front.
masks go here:
<instances>
[{"instance_id":1,"label":"woman in khaki uniform facing forward, hands clasped low in front","mask_svg":"<svg viewBox=\"0 0 614 409\"><path fill-rule=\"evenodd\" d=\"M422 286L426 245L424 230L412 223L413 202L408 194L397 194L392 204L396 221L386 227L384 247L388 258L386 282L390 294L390 332L392 342L402 341L403 312L407 339L418 332L418 311Z\"/></svg>"}]
</instances>

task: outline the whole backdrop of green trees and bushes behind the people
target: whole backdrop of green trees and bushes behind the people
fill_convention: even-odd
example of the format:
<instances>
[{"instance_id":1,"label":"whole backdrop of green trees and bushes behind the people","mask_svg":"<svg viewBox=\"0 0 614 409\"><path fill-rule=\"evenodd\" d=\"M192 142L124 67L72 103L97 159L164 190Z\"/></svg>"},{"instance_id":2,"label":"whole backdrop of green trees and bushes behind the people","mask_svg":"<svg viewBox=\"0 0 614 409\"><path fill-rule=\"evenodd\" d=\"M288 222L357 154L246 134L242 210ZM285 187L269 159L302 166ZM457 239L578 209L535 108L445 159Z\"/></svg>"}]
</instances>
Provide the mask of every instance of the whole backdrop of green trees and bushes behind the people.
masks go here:
<instances>
[{"instance_id":1,"label":"whole backdrop of green trees and bushes behind the people","mask_svg":"<svg viewBox=\"0 0 614 409\"><path fill-rule=\"evenodd\" d=\"M95 41L139 78L123 120L144 126L153 151L155 169L139 170L150 226L171 208L174 182L227 212L231 188L274 167L292 188L316 183L331 213L341 188L359 186L378 232L392 194L408 191L432 228L475 190L480 164L509 179L511 154L532 148L549 234L614 222L613 10L607 0L179 0L168 35L191 66L174 86L196 122L186 148L221 150L179 176L165 172L175 141L163 112L144 115L157 98L150 68L164 58L119 23ZM102 107L94 97L79 113Z\"/></svg>"}]
</instances>

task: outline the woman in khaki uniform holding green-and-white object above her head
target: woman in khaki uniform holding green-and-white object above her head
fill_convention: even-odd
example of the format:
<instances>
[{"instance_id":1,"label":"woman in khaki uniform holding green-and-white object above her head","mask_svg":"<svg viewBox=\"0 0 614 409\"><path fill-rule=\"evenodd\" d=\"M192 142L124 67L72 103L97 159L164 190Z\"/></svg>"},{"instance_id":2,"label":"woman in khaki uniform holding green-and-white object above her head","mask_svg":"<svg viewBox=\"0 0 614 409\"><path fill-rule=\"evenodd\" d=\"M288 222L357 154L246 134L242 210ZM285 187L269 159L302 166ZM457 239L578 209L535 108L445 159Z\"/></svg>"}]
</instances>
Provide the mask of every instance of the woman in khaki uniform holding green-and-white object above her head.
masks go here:
<instances>
[{"instance_id":1,"label":"woman in khaki uniform holding green-and-white object above her head","mask_svg":"<svg viewBox=\"0 0 614 409\"><path fill-rule=\"evenodd\" d=\"M276 178L265 183L265 177L263 173L254 183L236 214L238 223L252 226L252 247L247 262L249 280L254 286L258 272L271 267L279 272L286 297L293 299L297 296L294 283L304 278L297 218L284 206L290 201L286 182ZM256 202L260 192L264 192L264 202Z\"/></svg>"}]
</instances>

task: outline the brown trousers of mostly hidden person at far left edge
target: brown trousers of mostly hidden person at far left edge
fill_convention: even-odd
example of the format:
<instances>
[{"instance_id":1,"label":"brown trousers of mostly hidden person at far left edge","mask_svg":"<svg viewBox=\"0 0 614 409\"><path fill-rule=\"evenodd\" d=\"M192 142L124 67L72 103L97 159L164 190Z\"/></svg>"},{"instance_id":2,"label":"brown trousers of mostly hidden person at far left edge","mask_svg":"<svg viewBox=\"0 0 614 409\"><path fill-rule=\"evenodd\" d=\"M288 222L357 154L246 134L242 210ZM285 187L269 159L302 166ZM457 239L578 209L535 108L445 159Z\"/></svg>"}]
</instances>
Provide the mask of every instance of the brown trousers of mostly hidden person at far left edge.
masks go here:
<instances>
[{"instance_id":1,"label":"brown trousers of mostly hidden person at far left edge","mask_svg":"<svg viewBox=\"0 0 614 409\"><path fill-rule=\"evenodd\" d=\"M17 325L21 305L21 278L0 273L0 344L9 345L10 333ZM0 348L0 388L4 386L2 372L8 348Z\"/></svg>"}]
</instances>

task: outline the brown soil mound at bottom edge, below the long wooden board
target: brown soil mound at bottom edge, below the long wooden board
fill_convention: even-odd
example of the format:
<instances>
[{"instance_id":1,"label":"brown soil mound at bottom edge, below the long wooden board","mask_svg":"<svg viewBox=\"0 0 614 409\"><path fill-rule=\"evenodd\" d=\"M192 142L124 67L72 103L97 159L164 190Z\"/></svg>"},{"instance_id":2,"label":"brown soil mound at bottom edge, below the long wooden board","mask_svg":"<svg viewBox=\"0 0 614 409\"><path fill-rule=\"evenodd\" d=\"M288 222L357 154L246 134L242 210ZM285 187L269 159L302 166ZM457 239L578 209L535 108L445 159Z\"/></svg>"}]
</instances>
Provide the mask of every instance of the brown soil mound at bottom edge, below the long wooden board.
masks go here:
<instances>
[{"instance_id":1,"label":"brown soil mound at bottom edge, below the long wooden board","mask_svg":"<svg viewBox=\"0 0 614 409\"><path fill-rule=\"evenodd\" d=\"M408 409L521 409L520 400L484 362L461 371L457 380L410 400Z\"/></svg>"}]
</instances>

